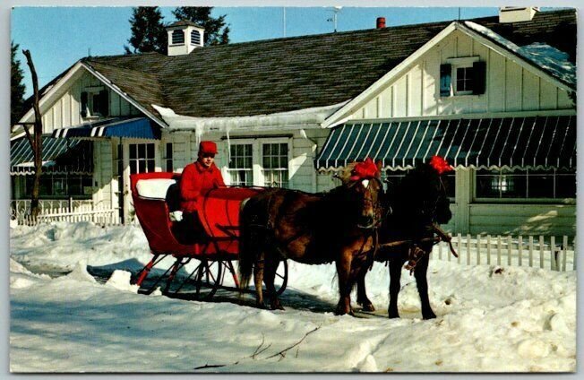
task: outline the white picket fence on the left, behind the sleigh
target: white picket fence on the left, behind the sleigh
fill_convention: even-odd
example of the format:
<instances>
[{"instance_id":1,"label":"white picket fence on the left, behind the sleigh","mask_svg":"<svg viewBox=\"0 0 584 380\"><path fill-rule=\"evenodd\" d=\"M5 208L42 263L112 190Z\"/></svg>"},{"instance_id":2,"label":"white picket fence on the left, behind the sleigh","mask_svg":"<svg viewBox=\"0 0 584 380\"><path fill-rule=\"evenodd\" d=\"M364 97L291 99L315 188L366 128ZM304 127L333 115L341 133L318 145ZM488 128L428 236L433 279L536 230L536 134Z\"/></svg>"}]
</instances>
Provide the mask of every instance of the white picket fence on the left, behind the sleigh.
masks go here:
<instances>
[{"instance_id":1,"label":"white picket fence on the left, behind the sleigh","mask_svg":"<svg viewBox=\"0 0 584 380\"><path fill-rule=\"evenodd\" d=\"M96 207L91 201L55 200L41 201L40 213L34 220L30 216L30 201L20 200L11 202L11 219L19 225L33 226L50 221L90 221L99 226L121 224L116 209Z\"/></svg>"}]
</instances>

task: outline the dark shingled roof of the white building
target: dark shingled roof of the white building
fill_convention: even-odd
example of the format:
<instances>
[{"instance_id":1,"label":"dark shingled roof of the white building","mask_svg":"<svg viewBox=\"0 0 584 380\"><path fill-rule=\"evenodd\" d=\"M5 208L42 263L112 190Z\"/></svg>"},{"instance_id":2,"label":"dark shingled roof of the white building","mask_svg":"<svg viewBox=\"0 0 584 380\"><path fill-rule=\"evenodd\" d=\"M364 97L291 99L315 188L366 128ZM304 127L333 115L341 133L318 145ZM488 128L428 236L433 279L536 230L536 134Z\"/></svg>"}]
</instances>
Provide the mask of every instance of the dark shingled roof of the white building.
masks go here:
<instances>
[{"instance_id":1,"label":"dark shingled roof of the white building","mask_svg":"<svg viewBox=\"0 0 584 380\"><path fill-rule=\"evenodd\" d=\"M474 19L518 46L542 42L575 62L576 13L537 13L531 22ZM241 117L322 107L356 97L451 22L433 22L83 59L133 99L190 117Z\"/></svg>"}]
</instances>

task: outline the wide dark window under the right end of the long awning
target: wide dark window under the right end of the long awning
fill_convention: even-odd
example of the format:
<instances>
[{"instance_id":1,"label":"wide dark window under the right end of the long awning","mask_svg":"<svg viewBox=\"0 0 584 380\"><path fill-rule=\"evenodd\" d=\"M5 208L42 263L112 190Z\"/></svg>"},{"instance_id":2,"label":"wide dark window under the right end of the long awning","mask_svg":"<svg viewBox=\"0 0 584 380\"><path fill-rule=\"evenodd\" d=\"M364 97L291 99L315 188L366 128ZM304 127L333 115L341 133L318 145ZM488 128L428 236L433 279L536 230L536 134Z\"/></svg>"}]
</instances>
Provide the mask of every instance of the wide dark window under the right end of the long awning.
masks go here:
<instances>
[{"instance_id":1,"label":"wide dark window under the right end of the long awning","mask_svg":"<svg viewBox=\"0 0 584 380\"><path fill-rule=\"evenodd\" d=\"M576 197L574 170L477 170L477 198L544 198Z\"/></svg>"}]
</instances>

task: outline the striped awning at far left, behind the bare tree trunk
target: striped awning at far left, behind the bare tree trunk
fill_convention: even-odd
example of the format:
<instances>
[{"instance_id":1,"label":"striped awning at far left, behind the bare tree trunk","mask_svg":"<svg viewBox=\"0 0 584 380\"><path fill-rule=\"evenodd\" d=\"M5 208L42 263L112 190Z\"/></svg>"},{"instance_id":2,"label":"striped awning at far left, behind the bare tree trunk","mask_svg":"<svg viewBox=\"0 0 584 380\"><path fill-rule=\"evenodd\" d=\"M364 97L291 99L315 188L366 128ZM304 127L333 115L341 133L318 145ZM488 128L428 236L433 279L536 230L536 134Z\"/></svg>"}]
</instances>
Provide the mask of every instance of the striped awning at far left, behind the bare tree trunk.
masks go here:
<instances>
[{"instance_id":1,"label":"striped awning at far left, behind the bare tree trunk","mask_svg":"<svg viewBox=\"0 0 584 380\"><path fill-rule=\"evenodd\" d=\"M52 174L93 173L93 143L80 140L42 138L43 172ZM34 174L34 155L26 137L16 140L10 147L10 174Z\"/></svg>"}]
</instances>

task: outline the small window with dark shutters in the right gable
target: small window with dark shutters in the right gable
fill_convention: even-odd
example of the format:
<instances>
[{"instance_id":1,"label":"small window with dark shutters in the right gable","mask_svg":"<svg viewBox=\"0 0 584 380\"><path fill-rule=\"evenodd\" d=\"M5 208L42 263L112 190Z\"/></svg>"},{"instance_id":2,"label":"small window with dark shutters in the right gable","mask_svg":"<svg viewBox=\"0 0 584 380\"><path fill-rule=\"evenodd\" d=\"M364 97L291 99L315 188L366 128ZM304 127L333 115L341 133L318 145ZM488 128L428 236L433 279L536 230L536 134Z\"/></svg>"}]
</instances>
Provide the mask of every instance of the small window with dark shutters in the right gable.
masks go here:
<instances>
[{"instance_id":1,"label":"small window with dark shutters in the right gable","mask_svg":"<svg viewBox=\"0 0 584 380\"><path fill-rule=\"evenodd\" d=\"M447 59L440 65L440 96L480 95L485 93L486 64L478 56Z\"/></svg>"}]
</instances>

